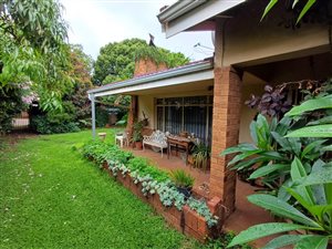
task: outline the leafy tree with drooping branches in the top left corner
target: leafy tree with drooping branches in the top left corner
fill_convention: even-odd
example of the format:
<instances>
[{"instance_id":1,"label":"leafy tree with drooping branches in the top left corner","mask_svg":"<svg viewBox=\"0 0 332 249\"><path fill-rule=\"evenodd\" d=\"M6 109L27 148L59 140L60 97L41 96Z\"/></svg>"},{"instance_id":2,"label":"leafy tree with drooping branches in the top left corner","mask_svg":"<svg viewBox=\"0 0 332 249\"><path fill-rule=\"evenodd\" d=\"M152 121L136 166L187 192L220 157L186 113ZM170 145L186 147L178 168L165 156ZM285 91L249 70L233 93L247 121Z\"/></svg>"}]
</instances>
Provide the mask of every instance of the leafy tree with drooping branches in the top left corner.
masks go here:
<instances>
[{"instance_id":1,"label":"leafy tree with drooping branches in the top left corner","mask_svg":"<svg viewBox=\"0 0 332 249\"><path fill-rule=\"evenodd\" d=\"M31 81L44 108L61 107L72 84L65 40L56 0L0 0L0 87Z\"/></svg>"}]
</instances>

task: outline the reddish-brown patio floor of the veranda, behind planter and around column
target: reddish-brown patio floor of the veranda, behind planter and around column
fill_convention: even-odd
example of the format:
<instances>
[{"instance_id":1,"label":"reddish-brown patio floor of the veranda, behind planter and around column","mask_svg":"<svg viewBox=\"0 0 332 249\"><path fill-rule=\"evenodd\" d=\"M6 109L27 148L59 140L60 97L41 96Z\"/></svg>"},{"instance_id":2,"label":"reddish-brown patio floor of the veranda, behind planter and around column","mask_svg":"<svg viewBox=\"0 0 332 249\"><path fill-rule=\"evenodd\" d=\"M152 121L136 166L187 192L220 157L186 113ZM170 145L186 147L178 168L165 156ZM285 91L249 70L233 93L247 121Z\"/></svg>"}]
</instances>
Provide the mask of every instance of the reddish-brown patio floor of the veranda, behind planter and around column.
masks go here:
<instances>
[{"instance_id":1,"label":"reddish-brown patio floor of the veranda, behind planter and around column","mask_svg":"<svg viewBox=\"0 0 332 249\"><path fill-rule=\"evenodd\" d=\"M204 173L197 168L186 166L185 162L177 156L169 156L167 159L167 154L164 154L162 158L160 153L153 152L152 149L145 151L135 151L128 147L124 149L131 151L135 156L147 157L160 169L172 170L181 168L193 177L195 177L194 191L200 196L207 196L208 190L205 186L209 185L209 172ZM273 218L268 211L250 204L247 200L247 196L255 194L257 187L252 187L249 184L246 184L241 180L237 180L236 189L236 210L232 212L225 222L225 229L236 232L247 229L250 226L262 224L262 222L272 222ZM261 247L269 239L260 239L255 246Z\"/></svg>"}]
</instances>

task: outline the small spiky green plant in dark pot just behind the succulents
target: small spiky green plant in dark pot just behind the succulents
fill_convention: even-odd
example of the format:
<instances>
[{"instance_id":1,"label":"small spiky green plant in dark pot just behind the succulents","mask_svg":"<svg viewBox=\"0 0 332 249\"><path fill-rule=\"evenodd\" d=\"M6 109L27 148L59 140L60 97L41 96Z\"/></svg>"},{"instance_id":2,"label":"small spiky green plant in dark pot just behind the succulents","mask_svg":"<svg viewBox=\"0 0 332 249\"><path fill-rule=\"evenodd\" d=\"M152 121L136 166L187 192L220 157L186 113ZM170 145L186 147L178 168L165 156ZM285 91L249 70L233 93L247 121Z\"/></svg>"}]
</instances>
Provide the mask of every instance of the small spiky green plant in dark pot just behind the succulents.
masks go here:
<instances>
[{"instance_id":1,"label":"small spiky green plant in dark pot just behind the succulents","mask_svg":"<svg viewBox=\"0 0 332 249\"><path fill-rule=\"evenodd\" d=\"M189 198L191 195L191 188L194 186L195 178L183 169L172 170L169 173L169 177L175 183L177 190L184 194L185 198Z\"/></svg>"}]
</instances>

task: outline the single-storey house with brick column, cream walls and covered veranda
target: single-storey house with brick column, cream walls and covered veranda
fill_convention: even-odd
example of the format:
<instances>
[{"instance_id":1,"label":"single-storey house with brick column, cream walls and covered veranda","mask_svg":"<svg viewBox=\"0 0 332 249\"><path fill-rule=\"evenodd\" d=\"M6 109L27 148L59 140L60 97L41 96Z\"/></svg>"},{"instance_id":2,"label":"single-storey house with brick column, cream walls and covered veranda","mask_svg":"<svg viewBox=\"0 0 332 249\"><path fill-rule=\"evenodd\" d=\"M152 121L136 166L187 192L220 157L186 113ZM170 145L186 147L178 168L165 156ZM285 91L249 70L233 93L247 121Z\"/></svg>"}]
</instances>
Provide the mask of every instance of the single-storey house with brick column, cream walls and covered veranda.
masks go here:
<instances>
[{"instance_id":1,"label":"single-storey house with brick column, cream walls and covered veranda","mask_svg":"<svg viewBox=\"0 0 332 249\"><path fill-rule=\"evenodd\" d=\"M159 72L146 66L141 76L89 92L93 106L95 97L129 94L131 121L144 111L151 128L191 129L210 143L210 197L220 199L224 219L235 209L236 173L227 169L230 157L219 154L250 141L248 127L256 111L243 101L262 92L266 83L332 75L329 22L312 15L295 27L292 11L284 11L282 4L260 22L266 4L257 0L179 0L157 15L166 37L214 31L214 60ZM331 15L331 8L319 10Z\"/></svg>"}]
</instances>

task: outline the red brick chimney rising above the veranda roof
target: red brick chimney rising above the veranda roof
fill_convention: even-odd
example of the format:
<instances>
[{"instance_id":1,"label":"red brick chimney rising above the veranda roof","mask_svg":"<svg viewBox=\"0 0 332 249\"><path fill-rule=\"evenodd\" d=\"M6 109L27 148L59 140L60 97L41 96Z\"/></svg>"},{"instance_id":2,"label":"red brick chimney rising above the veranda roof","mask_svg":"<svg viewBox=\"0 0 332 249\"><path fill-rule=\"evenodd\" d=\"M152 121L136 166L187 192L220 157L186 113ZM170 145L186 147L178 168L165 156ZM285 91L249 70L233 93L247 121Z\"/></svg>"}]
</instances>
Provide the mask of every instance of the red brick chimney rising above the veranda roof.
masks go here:
<instances>
[{"instance_id":1,"label":"red brick chimney rising above the veranda roof","mask_svg":"<svg viewBox=\"0 0 332 249\"><path fill-rule=\"evenodd\" d=\"M165 62L155 62L152 58L139 58L135 62L134 77L167 70Z\"/></svg>"}]
</instances>

